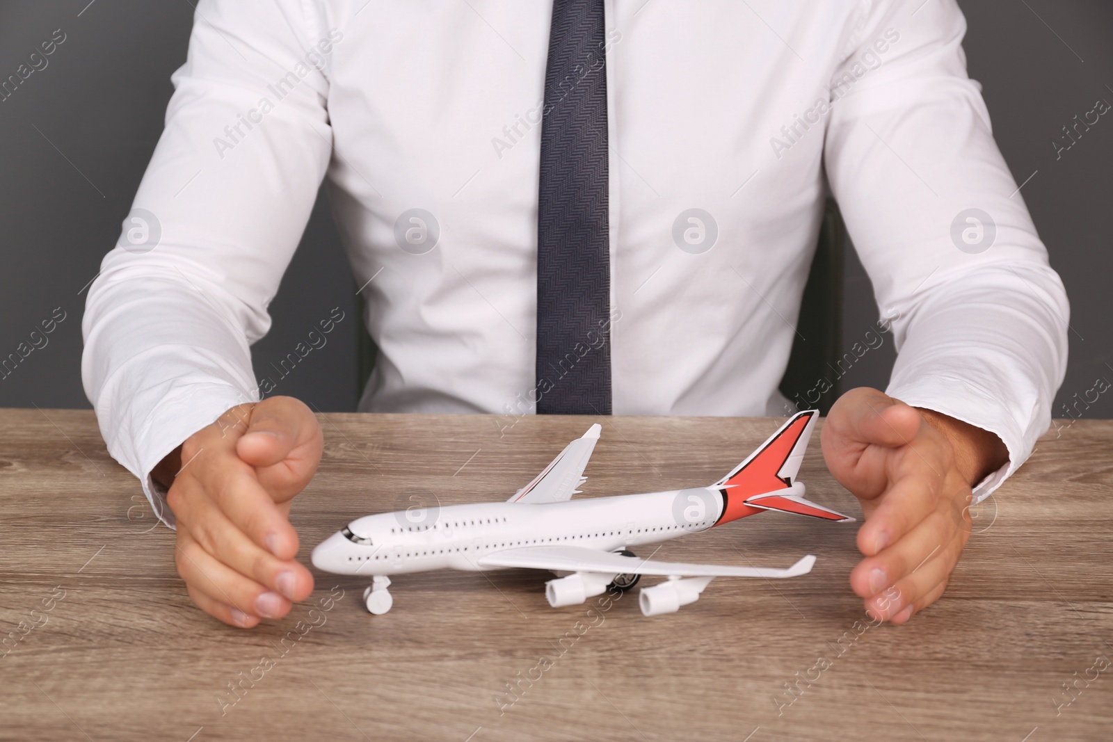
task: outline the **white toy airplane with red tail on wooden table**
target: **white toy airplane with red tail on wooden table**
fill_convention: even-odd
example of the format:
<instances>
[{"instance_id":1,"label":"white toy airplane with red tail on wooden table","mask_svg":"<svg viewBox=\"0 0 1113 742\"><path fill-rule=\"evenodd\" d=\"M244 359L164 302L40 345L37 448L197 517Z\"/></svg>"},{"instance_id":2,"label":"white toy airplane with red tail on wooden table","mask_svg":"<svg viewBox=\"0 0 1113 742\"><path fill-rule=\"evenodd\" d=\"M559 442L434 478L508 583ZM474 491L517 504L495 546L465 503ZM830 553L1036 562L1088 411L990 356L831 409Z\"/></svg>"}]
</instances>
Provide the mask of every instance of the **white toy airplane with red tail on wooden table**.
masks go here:
<instances>
[{"instance_id":1,"label":"white toy airplane with red tail on wooden table","mask_svg":"<svg viewBox=\"0 0 1113 742\"><path fill-rule=\"evenodd\" d=\"M553 607L583 603L610 585L630 590L641 575L668 577L641 590L638 603L647 616L696 602L713 577L807 574L816 562L810 554L777 570L658 562L638 558L628 548L764 511L854 521L808 502L804 484L794 481L817 417L814 409L798 413L710 486L572 499L585 481L583 469L599 441L595 424L509 501L368 515L318 544L313 565L336 574L372 576L364 601L374 614L386 613L393 605L387 575L432 570L548 570L558 575L545 583L545 597Z\"/></svg>"}]
</instances>

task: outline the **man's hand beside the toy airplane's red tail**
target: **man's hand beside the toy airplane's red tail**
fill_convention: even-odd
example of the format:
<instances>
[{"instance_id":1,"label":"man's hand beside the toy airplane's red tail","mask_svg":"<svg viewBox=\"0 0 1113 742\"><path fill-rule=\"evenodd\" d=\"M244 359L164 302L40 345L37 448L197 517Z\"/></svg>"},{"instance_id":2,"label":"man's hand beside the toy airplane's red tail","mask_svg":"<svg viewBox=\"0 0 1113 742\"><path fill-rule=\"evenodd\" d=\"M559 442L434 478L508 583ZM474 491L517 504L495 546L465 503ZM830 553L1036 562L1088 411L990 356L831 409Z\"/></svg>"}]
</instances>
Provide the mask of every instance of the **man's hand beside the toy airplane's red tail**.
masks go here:
<instances>
[{"instance_id":1,"label":"man's hand beside the toy airplane's red tail","mask_svg":"<svg viewBox=\"0 0 1113 742\"><path fill-rule=\"evenodd\" d=\"M866 515L850 586L875 619L903 624L943 595L969 538L971 487L1008 452L993 433L866 387L835 403L821 438Z\"/></svg>"}]
</instances>

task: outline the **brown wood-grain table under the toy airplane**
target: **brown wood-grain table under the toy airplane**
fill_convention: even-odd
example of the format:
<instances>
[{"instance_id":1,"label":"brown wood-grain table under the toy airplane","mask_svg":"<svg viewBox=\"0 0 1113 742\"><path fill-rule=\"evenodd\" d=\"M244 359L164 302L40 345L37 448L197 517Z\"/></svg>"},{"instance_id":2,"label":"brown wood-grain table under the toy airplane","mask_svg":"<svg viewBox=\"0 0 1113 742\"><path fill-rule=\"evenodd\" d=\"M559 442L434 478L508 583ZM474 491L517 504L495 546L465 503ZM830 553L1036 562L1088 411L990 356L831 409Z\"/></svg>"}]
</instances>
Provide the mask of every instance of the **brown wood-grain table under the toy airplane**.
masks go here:
<instances>
[{"instance_id":1,"label":"brown wood-grain table under the toy airplane","mask_svg":"<svg viewBox=\"0 0 1113 742\"><path fill-rule=\"evenodd\" d=\"M504 499L590 422L322 415L325 456L294 507L302 558L411 496ZM707 484L778 423L601 422L581 496ZM309 604L235 630L190 603L171 532L91 413L0 410L0 442L2 740L1113 738L1113 421L1044 436L979 508L947 594L904 627L866 627L847 584L855 525L769 513L658 558L814 553L811 574L719 578L672 615L642 616L634 593L553 610L551 575L508 570L400 577L373 616L365 580L316 573ZM800 476L859 512L818 441Z\"/></svg>"}]
</instances>

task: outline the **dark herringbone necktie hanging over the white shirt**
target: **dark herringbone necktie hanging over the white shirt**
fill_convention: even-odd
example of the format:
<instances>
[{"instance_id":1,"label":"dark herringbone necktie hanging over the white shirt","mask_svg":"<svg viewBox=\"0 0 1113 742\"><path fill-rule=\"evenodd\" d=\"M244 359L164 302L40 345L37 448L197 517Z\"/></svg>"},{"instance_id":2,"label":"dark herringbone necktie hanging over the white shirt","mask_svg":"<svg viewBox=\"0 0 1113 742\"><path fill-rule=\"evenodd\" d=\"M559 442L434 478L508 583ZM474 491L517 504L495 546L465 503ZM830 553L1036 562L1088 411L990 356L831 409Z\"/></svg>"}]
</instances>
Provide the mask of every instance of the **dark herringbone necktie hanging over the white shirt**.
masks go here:
<instances>
[{"instance_id":1,"label":"dark herringbone necktie hanging over the white shirt","mask_svg":"<svg viewBox=\"0 0 1113 742\"><path fill-rule=\"evenodd\" d=\"M538 200L538 414L611 413L603 0L554 0Z\"/></svg>"}]
</instances>

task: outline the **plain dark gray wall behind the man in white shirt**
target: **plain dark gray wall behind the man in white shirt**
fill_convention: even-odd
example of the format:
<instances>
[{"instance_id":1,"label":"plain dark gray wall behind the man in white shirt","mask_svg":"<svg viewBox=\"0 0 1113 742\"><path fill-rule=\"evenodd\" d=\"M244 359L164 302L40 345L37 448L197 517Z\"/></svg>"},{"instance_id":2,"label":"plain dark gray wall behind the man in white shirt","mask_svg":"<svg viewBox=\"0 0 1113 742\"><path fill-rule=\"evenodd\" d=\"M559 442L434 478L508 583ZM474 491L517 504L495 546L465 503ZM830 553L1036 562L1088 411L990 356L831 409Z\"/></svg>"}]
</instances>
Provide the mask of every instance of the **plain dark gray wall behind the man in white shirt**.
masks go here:
<instances>
[{"instance_id":1,"label":"plain dark gray wall behind the man in white shirt","mask_svg":"<svg viewBox=\"0 0 1113 742\"><path fill-rule=\"evenodd\" d=\"M1063 405L1095 379L1113 382L1113 118L1103 117L1061 159L1052 146L1095 100L1113 103L1113 3L959 4L969 23L971 76L984 86L1017 182L1032 177L1023 196L1071 296L1071 363L1055 406L1063 416ZM169 76L185 59L193 13L186 0L0 0L0 79L55 29L67 37L45 69L0 102L0 357L57 307L66 313L48 345L0 380L0 406L89 406L80 383L83 290L119 235L161 131ZM318 199L270 306L274 327L253 348L256 369L284 357L314 318L339 306L352 321L341 323L328 345L283 380L282 393L325 412L354 409L354 294L327 204ZM853 255L845 295L849 346L877 317L869 279ZM844 377L844 388L884 387L893 358L887 337ZM1111 417L1113 395L1075 409Z\"/></svg>"}]
</instances>

